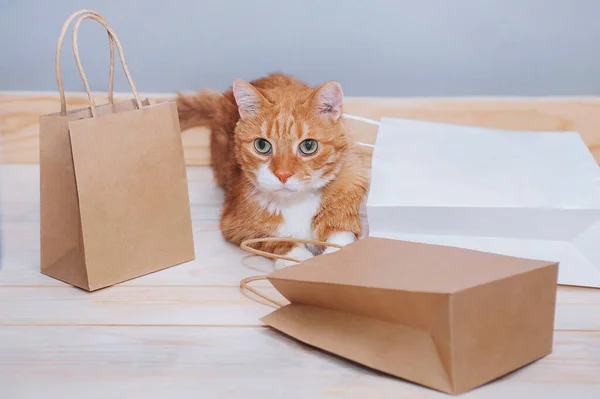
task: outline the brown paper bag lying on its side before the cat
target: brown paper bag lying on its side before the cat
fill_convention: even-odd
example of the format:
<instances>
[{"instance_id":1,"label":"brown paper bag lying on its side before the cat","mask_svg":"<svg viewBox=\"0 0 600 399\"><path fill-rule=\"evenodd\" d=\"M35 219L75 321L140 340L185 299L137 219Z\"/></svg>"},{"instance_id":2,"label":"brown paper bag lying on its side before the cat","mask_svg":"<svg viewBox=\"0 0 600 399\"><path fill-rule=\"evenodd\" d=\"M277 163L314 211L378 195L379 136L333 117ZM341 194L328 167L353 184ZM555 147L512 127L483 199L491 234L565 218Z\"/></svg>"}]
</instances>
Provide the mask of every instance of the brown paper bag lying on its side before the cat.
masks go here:
<instances>
[{"instance_id":1,"label":"brown paper bag lying on its side before the cat","mask_svg":"<svg viewBox=\"0 0 600 399\"><path fill-rule=\"evenodd\" d=\"M552 262L366 238L267 276L290 304L272 301L282 307L262 321L367 367L458 394L552 351L557 274ZM247 286L259 278L242 288L270 300Z\"/></svg>"}]
</instances>

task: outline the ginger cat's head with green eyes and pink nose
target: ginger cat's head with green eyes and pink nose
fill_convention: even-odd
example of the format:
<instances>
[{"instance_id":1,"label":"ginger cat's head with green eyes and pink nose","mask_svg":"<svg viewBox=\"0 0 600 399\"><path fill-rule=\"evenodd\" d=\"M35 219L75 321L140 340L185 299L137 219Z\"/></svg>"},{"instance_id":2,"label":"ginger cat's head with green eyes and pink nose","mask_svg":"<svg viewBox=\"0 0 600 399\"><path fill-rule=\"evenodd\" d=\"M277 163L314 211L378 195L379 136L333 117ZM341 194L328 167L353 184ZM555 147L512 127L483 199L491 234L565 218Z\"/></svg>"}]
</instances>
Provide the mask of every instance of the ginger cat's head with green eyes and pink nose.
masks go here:
<instances>
[{"instance_id":1,"label":"ginger cat's head with green eyes and pink nose","mask_svg":"<svg viewBox=\"0 0 600 399\"><path fill-rule=\"evenodd\" d=\"M236 157L258 190L290 197L335 178L348 150L339 83L262 91L237 79L233 93L240 113Z\"/></svg>"}]
</instances>

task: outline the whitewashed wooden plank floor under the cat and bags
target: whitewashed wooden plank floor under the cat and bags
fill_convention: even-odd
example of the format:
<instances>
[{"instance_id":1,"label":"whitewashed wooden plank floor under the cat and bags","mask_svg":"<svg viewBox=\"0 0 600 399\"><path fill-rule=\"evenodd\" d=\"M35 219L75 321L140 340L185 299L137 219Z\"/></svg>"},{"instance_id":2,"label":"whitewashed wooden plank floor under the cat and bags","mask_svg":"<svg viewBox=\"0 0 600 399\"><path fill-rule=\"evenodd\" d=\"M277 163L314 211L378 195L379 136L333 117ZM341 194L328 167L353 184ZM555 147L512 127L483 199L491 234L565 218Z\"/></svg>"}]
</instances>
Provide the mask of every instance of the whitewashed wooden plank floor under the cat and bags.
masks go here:
<instances>
[{"instance_id":1,"label":"whitewashed wooden plank floor under the cat and bags","mask_svg":"<svg viewBox=\"0 0 600 399\"><path fill-rule=\"evenodd\" d=\"M0 397L447 397L262 325L238 283L272 264L223 241L208 168L188 169L197 259L87 293L39 272L38 166L0 167ZM555 328L550 356L462 397L600 398L600 290L560 287Z\"/></svg>"}]
</instances>

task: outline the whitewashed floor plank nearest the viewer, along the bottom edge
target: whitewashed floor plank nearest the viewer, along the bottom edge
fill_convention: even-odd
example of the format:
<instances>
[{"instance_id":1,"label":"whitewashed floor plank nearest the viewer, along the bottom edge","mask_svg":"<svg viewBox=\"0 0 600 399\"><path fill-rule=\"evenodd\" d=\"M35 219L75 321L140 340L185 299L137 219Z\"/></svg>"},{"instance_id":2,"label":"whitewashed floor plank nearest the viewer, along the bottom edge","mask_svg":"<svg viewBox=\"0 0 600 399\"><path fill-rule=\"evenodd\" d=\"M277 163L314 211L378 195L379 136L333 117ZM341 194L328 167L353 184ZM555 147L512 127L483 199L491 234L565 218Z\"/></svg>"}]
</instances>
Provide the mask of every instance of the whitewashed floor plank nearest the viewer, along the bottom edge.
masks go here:
<instances>
[{"instance_id":1,"label":"whitewashed floor plank nearest the viewer, along the bottom edge","mask_svg":"<svg viewBox=\"0 0 600 399\"><path fill-rule=\"evenodd\" d=\"M600 333L562 332L554 352L464 398L598 398ZM3 327L7 398L447 398L266 328Z\"/></svg>"}]
</instances>

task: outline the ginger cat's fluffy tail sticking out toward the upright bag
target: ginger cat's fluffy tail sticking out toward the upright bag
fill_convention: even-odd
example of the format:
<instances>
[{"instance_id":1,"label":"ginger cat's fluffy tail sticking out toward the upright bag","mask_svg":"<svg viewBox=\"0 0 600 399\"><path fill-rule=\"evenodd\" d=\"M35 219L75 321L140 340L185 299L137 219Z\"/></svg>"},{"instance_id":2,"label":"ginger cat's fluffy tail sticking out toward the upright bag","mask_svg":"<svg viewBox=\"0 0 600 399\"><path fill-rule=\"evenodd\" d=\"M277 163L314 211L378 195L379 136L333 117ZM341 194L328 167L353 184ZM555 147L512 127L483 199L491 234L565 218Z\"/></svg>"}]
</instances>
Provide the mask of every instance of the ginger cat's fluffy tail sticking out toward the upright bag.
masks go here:
<instances>
[{"instance_id":1,"label":"ginger cat's fluffy tail sticking out toward the upright bag","mask_svg":"<svg viewBox=\"0 0 600 399\"><path fill-rule=\"evenodd\" d=\"M177 93L177 112L181 130L210 126L221 93L202 90L196 94Z\"/></svg>"}]
</instances>

